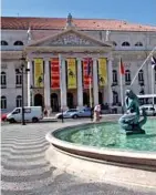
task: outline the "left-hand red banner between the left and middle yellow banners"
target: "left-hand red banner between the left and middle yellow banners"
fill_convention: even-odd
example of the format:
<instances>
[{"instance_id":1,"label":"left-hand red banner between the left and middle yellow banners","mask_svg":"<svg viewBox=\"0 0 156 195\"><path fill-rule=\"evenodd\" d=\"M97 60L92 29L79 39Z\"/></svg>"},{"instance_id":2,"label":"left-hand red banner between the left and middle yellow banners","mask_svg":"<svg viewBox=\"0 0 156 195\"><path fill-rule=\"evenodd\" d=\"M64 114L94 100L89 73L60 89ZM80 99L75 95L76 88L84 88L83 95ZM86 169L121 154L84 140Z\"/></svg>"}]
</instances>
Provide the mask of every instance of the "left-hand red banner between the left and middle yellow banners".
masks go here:
<instances>
[{"instance_id":1,"label":"left-hand red banner between the left and middle yellow banners","mask_svg":"<svg viewBox=\"0 0 156 195\"><path fill-rule=\"evenodd\" d=\"M51 59L51 88L52 89L60 89L59 58Z\"/></svg>"}]
</instances>

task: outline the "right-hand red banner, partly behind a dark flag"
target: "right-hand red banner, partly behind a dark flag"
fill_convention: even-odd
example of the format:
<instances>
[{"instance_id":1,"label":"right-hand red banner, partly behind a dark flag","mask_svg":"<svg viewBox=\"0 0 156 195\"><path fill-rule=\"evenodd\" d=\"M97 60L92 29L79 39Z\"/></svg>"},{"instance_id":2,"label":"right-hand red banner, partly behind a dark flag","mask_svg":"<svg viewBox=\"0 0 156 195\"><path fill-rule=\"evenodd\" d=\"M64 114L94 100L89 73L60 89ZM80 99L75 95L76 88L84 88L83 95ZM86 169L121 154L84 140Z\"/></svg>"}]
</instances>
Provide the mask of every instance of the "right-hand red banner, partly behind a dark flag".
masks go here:
<instances>
[{"instance_id":1,"label":"right-hand red banner, partly behind a dark flag","mask_svg":"<svg viewBox=\"0 0 156 195\"><path fill-rule=\"evenodd\" d=\"M93 61L92 59L84 59L83 60L83 88L89 89L90 84L92 88L92 69L93 69ZM91 81L90 81L91 80Z\"/></svg>"}]
</instances>

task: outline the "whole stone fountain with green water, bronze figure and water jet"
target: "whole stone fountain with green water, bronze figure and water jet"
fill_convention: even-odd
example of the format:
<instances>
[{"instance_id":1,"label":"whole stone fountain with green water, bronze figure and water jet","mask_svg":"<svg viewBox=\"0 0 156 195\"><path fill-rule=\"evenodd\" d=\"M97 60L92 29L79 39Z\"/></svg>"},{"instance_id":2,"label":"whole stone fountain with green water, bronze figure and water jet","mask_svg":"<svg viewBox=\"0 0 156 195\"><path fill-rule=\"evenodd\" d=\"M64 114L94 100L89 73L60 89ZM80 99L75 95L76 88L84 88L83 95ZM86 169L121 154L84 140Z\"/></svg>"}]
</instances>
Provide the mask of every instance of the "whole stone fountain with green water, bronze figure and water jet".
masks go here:
<instances>
[{"instance_id":1,"label":"whole stone fountain with green water, bronze figure and water jet","mask_svg":"<svg viewBox=\"0 0 156 195\"><path fill-rule=\"evenodd\" d=\"M138 99L132 90L125 95L126 113L118 123L104 117L101 123L80 123L48 133L48 161L89 178L96 175L102 181L156 189L156 120L147 120L145 110L141 117Z\"/></svg>"}]
</instances>

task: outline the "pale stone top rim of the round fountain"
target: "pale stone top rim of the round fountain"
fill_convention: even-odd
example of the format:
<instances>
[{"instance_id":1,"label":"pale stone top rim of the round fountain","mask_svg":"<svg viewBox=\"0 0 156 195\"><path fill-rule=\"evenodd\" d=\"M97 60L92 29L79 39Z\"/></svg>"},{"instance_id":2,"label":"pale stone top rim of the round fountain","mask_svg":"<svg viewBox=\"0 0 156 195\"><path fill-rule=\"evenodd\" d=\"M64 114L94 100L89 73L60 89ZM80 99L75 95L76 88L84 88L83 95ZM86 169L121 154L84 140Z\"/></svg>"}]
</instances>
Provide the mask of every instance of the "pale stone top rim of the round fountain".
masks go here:
<instances>
[{"instance_id":1,"label":"pale stone top rim of the round fountain","mask_svg":"<svg viewBox=\"0 0 156 195\"><path fill-rule=\"evenodd\" d=\"M108 121L105 121L108 122ZM104 123L104 122L101 122ZM80 145L80 144L73 144L66 141L62 141L58 137L55 137L55 133L66 130L66 129L71 129L72 127L83 127L83 126L89 126L92 124L100 124L100 123L84 123L84 124L76 124L76 125L69 125L65 127L60 127L60 129L55 129L54 131L50 131L46 135L45 138L48 142L50 142L52 145L54 145L55 147L61 147L61 148L67 148L67 150L76 150L76 151L81 151L81 152L89 152L89 153L96 153L100 155L115 155L115 156L123 156L123 157L131 157L131 158L145 158L145 160L154 160L156 161L156 153L155 152L144 152L144 151L125 151L125 150L119 150L119 148L106 148L106 147L102 147L102 148L97 148L95 146L89 146L89 145ZM70 131L70 130L69 130Z\"/></svg>"}]
</instances>

